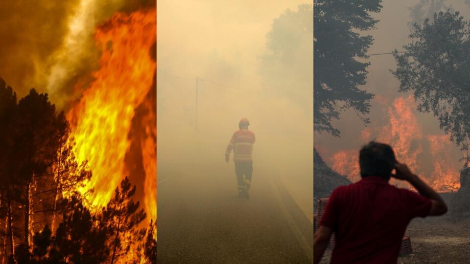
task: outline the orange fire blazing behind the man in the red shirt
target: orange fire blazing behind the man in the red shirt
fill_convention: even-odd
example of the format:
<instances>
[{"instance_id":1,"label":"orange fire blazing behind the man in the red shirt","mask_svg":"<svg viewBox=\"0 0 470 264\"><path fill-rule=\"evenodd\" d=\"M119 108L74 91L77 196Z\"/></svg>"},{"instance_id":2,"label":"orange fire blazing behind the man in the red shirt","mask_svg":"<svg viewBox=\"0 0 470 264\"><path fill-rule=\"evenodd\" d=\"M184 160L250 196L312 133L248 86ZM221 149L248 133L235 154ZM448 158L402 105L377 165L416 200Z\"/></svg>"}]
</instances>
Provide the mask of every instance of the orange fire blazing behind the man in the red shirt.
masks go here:
<instances>
[{"instance_id":1,"label":"orange fire blazing behind the man in the red shirt","mask_svg":"<svg viewBox=\"0 0 470 264\"><path fill-rule=\"evenodd\" d=\"M380 100L378 100L380 101ZM381 102L386 107L388 122L383 127L367 127L361 132L361 142L377 140L392 145L397 159L423 176L433 188L446 192L460 187L458 163L450 157L452 143L445 134L423 135L422 124L412 109L416 107L413 97L397 97L392 104ZM423 159L431 160L431 166ZM346 175L353 182L360 179L358 150L341 150L330 158L331 168ZM393 184L400 184L393 182ZM402 187L410 187L408 185Z\"/></svg>"}]
</instances>

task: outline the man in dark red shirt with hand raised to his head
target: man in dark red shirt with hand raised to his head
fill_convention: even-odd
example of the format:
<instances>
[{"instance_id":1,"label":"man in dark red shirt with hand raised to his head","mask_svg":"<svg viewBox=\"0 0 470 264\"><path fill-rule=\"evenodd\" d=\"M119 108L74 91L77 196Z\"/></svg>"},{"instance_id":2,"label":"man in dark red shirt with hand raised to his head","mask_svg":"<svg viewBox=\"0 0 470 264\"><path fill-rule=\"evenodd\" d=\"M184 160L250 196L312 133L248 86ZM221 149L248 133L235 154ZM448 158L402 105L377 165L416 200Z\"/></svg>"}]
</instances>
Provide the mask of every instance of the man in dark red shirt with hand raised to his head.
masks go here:
<instances>
[{"instance_id":1,"label":"man in dark red shirt with hand raised to his head","mask_svg":"<svg viewBox=\"0 0 470 264\"><path fill-rule=\"evenodd\" d=\"M359 165L362 179L329 197L313 240L315 264L333 232L331 263L396 264L410 220L447 212L444 200L397 162L390 146L370 142L359 152ZM408 181L419 194L390 185L390 177Z\"/></svg>"}]
</instances>

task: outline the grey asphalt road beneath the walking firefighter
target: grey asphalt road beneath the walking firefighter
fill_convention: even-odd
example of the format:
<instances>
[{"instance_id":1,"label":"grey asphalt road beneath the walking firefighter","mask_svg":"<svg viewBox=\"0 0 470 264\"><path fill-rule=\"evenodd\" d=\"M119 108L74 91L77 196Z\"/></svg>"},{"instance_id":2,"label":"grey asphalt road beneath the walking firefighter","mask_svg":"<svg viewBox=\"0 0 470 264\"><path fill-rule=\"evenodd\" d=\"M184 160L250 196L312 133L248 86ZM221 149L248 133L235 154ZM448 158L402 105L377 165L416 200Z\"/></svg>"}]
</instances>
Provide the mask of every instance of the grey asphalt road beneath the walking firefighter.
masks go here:
<instances>
[{"instance_id":1,"label":"grey asphalt road beneath the walking firefighter","mask_svg":"<svg viewBox=\"0 0 470 264\"><path fill-rule=\"evenodd\" d=\"M157 263L312 263L313 226L279 178L255 167L246 200L235 173L198 171L158 175Z\"/></svg>"}]
</instances>

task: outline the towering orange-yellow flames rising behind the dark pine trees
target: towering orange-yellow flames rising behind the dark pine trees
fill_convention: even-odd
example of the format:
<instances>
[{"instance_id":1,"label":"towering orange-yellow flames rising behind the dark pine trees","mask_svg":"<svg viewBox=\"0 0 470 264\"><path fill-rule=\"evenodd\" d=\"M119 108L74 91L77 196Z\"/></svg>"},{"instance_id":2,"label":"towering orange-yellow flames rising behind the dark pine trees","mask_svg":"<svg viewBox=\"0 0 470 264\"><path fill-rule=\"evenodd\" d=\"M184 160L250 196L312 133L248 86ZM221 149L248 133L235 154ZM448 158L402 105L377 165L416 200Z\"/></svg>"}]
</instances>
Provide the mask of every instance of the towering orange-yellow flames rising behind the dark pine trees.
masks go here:
<instances>
[{"instance_id":1,"label":"towering orange-yellow flames rising behind the dark pine trees","mask_svg":"<svg viewBox=\"0 0 470 264\"><path fill-rule=\"evenodd\" d=\"M79 162L88 160L93 172L86 188L79 191L93 188L90 205L104 206L125 176L131 120L152 86L156 62L149 52L156 41L156 10L115 14L97 29L95 41L102 50L100 69L67 118L76 141L76 158ZM156 181L156 168L152 165L156 162L155 141L147 138L142 144L145 186L154 188L153 192L145 189L148 210L153 206L149 200L155 199L151 194L156 193L156 183L152 185ZM151 216L156 215L156 207L153 208L147 212Z\"/></svg>"}]
</instances>

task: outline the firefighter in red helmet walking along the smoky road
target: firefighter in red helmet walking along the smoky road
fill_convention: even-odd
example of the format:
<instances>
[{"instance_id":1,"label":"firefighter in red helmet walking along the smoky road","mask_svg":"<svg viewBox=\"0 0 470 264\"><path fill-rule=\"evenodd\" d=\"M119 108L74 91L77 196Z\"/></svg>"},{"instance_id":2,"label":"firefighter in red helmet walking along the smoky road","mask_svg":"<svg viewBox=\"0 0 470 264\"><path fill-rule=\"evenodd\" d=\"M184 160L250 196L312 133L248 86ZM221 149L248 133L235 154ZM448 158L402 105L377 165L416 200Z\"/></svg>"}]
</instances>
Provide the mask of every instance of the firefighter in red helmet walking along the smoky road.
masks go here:
<instances>
[{"instance_id":1,"label":"firefighter in red helmet walking along the smoky road","mask_svg":"<svg viewBox=\"0 0 470 264\"><path fill-rule=\"evenodd\" d=\"M250 198L248 190L251 186L251 176L253 174L251 153L253 151L253 143L255 143L255 134L248 130L249 125L248 119L242 118L240 120L238 123L240 130L235 131L225 152L225 161L229 163L230 153L232 150L234 151L238 197L246 199Z\"/></svg>"}]
</instances>

